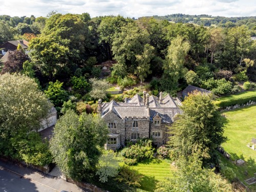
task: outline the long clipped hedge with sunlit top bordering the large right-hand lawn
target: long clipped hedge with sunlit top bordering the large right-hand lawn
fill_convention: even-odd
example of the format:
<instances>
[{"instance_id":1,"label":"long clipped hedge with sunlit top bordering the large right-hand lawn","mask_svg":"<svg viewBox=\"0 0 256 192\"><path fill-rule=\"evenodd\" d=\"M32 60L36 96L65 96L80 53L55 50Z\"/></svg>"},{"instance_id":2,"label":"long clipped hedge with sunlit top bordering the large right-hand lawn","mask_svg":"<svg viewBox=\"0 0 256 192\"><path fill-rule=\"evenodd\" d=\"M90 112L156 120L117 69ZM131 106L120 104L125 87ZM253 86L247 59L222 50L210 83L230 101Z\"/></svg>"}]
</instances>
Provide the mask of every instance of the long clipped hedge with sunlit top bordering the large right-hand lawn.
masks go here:
<instances>
[{"instance_id":1,"label":"long clipped hedge with sunlit top bordering the large right-hand lawn","mask_svg":"<svg viewBox=\"0 0 256 192\"><path fill-rule=\"evenodd\" d=\"M214 103L220 108L236 104L246 104L248 101L256 101L256 91L246 91L237 95L229 95L216 99Z\"/></svg>"}]
</instances>

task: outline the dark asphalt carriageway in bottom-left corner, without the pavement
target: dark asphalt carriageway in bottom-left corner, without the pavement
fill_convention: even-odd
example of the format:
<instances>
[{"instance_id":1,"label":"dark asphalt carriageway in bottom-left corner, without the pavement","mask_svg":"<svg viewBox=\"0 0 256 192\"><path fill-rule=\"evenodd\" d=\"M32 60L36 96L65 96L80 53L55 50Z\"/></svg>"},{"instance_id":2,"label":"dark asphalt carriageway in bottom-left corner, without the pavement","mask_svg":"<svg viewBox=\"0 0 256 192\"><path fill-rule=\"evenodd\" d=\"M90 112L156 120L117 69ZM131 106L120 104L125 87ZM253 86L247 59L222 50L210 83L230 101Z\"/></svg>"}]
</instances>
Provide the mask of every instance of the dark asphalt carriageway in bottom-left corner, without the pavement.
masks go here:
<instances>
[{"instance_id":1,"label":"dark asphalt carriageway in bottom-left corner, without the pavement","mask_svg":"<svg viewBox=\"0 0 256 192\"><path fill-rule=\"evenodd\" d=\"M17 192L17 191L40 191L40 192L56 192L43 184L37 183L30 179L9 172L0 167L0 192Z\"/></svg>"}]
</instances>

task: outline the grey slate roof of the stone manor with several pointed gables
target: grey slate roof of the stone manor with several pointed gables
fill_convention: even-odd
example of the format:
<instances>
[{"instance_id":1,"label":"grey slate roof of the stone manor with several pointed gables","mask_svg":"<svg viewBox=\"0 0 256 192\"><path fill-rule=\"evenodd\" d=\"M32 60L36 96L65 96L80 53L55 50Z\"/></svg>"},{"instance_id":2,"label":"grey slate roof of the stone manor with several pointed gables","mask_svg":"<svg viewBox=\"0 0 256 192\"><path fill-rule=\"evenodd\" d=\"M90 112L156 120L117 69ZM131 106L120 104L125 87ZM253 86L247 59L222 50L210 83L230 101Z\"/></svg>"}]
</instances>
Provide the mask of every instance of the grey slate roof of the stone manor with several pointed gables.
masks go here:
<instances>
[{"instance_id":1,"label":"grey slate roof of the stone manor with several pointed gables","mask_svg":"<svg viewBox=\"0 0 256 192\"><path fill-rule=\"evenodd\" d=\"M143 103L143 99L136 94L133 98L127 99L127 102L116 102L112 100L109 103L102 104L102 114L104 117L110 112L114 112L121 119L124 118L150 118L153 120L153 117L158 114L162 118L164 123L174 122L174 117L176 114L180 114L181 110L178 105L181 105L180 101L174 99L167 95L163 98L162 103L160 104L159 100L155 96L150 96L149 107Z\"/></svg>"}]
</instances>

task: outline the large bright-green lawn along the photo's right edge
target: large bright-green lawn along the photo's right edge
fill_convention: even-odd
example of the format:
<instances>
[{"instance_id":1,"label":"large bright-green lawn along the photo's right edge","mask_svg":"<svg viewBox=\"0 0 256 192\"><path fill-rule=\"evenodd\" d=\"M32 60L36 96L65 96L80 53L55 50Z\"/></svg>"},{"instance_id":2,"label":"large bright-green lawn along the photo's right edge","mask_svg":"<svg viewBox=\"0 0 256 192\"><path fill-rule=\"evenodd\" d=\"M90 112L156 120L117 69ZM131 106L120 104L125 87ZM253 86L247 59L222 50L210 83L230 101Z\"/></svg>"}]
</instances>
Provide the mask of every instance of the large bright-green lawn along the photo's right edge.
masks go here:
<instances>
[{"instance_id":1,"label":"large bright-green lawn along the photo's right edge","mask_svg":"<svg viewBox=\"0 0 256 192\"><path fill-rule=\"evenodd\" d=\"M229 140L222 144L222 146L224 150L231 155L231 160L243 159L246 161L246 164L237 166L226 161L225 158L223 158L222 161L228 163L228 165L234 169L234 172L236 172L242 182L247 178L253 177L253 173L256 173L256 151L246 146L252 138L256 138L255 114L255 105L223 113L226 117L224 136ZM246 170L248 176L244 174ZM256 191L255 184L250 187Z\"/></svg>"}]
</instances>

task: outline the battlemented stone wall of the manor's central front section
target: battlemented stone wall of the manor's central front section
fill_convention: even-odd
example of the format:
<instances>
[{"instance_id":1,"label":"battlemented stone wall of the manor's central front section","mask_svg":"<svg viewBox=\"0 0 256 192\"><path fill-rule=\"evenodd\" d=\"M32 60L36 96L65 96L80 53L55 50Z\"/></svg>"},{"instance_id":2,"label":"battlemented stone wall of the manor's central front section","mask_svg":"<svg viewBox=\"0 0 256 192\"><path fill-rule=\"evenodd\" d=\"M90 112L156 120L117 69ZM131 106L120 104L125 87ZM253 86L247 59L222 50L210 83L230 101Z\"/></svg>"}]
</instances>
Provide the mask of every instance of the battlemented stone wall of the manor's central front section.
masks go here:
<instances>
[{"instance_id":1,"label":"battlemented stone wall of the manor's central front section","mask_svg":"<svg viewBox=\"0 0 256 192\"><path fill-rule=\"evenodd\" d=\"M138 121L138 130L133 130L133 122ZM140 138L148 138L150 136L150 119L149 118L125 118L125 139L131 140L132 133L139 133Z\"/></svg>"}]
</instances>

